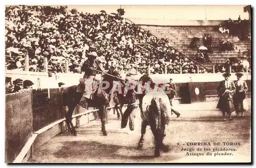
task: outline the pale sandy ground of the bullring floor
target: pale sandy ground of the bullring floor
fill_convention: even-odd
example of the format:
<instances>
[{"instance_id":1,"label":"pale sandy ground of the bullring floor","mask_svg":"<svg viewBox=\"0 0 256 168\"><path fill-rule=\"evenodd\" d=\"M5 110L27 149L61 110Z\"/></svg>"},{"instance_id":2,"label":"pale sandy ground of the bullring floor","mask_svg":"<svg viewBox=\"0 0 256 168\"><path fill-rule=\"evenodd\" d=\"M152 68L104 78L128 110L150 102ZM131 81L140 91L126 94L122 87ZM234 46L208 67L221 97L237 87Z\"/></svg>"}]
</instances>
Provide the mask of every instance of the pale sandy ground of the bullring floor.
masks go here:
<instances>
[{"instance_id":1,"label":"pale sandy ground of the bullring floor","mask_svg":"<svg viewBox=\"0 0 256 168\"><path fill-rule=\"evenodd\" d=\"M248 103L250 99L247 99ZM223 121L221 112L216 109L217 102L194 104L179 104L176 109L181 116L173 114L172 122L167 127L164 143L169 145L167 153L161 152L161 157L154 158L154 140L148 126L144 137L142 150L137 149L140 138L140 111L136 113L135 132L127 134L129 126L124 131L117 131L121 121L116 115L109 117L108 136L100 132L100 121L93 121L77 129L79 136L69 132L58 134L42 145L37 153L28 160L29 163L143 163L143 162L250 162L251 112L244 113L243 118L234 117L232 121ZM250 103L249 103L250 105ZM235 115L234 113L232 113ZM211 146L188 146L189 142L210 142ZM220 146L213 146L220 142ZM224 142L229 146L224 146ZM240 145L236 145L236 143ZM177 143L180 145L178 146ZM181 151L183 149L189 151ZM197 151L199 148L202 151ZM210 149L205 151L204 148ZM232 149L236 151L213 152L213 149ZM194 151L193 151L194 150ZM188 155L187 155L188 152ZM206 155L208 152L212 155ZM190 156L194 155L201 156ZM192 155L193 155L192 154ZM204 154L202 156L202 154ZM217 156L214 156L217 155Z\"/></svg>"}]
</instances>

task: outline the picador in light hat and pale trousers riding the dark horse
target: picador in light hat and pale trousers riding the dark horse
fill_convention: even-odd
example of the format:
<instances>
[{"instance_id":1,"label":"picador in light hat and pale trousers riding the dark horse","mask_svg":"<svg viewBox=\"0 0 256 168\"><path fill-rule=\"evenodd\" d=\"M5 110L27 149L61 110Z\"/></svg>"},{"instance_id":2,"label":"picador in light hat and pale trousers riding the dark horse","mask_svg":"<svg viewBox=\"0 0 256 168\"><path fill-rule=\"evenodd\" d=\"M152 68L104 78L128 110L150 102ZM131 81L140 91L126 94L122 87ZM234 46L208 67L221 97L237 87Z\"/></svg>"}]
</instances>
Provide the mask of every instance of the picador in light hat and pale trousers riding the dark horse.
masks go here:
<instances>
[{"instance_id":1,"label":"picador in light hat and pale trousers riding the dark horse","mask_svg":"<svg viewBox=\"0 0 256 168\"><path fill-rule=\"evenodd\" d=\"M84 108L87 108L86 103L88 102L88 99L91 99L91 93L94 91L93 84L95 83L95 76L97 74L97 71L94 69L103 71L96 60L97 57L98 55L96 52L89 53L88 60L86 60L81 67L81 71L84 71L84 75L83 79L79 80L76 91L80 93L83 92L83 97L79 102L79 105Z\"/></svg>"}]
</instances>

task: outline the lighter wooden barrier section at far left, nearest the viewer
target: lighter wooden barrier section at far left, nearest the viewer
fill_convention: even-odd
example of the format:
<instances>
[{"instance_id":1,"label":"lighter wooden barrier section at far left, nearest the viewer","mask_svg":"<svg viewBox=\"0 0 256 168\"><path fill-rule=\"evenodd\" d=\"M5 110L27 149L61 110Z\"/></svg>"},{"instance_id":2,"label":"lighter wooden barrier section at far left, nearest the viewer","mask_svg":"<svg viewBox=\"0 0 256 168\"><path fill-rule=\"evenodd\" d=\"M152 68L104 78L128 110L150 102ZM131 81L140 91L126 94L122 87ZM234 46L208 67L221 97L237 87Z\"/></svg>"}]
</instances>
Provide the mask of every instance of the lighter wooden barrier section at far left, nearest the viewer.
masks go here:
<instances>
[{"instance_id":1,"label":"lighter wooden barrier section at far left, nearest the viewer","mask_svg":"<svg viewBox=\"0 0 256 168\"><path fill-rule=\"evenodd\" d=\"M6 162L12 162L15 159L33 133L31 93L29 90L6 95Z\"/></svg>"}]
</instances>

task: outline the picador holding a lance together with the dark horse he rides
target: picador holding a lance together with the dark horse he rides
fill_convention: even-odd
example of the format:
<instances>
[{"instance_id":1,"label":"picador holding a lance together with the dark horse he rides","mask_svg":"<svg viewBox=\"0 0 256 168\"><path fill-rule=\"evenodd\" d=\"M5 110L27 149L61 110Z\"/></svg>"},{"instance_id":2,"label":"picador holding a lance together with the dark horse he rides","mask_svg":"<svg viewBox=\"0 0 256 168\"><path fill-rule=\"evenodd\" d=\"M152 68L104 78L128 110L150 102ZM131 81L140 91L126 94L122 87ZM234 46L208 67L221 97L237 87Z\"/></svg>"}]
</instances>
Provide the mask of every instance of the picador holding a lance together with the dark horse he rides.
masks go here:
<instances>
[{"instance_id":1,"label":"picador holding a lance together with the dark horse he rides","mask_svg":"<svg viewBox=\"0 0 256 168\"><path fill-rule=\"evenodd\" d=\"M105 124L108 121L106 107L110 103L110 93L113 88L113 82L120 80L118 78L120 75L114 67L111 67L108 72L104 73L96 61L97 56L95 52L88 54L88 60L86 60L81 67L81 71L84 71L83 79L80 79L78 86L70 86L63 90L62 93L62 105L66 106L67 111L67 126L74 135L77 135L77 131L72 123L72 114L77 105L86 109L88 109L88 107L97 108L101 121L101 131L104 136L108 135L105 129ZM97 71L104 74L104 76L102 80L94 84ZM106 83L109 84L109 87L105 87Z\"/></svg>"}]
</instances>

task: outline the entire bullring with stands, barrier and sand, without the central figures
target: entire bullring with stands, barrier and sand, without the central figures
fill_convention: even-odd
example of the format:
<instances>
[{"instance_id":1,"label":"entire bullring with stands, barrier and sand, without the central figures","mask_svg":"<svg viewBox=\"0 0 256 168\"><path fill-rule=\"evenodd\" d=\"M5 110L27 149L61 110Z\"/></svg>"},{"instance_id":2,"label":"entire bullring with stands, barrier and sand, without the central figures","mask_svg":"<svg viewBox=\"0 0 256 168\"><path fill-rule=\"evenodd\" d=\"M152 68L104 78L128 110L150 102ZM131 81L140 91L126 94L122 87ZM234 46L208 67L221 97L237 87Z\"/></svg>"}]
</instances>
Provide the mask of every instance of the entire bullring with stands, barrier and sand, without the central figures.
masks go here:
<instances>
[{"instance_id":1,"label":"entire bullring with stands, barrier and sand, without the central figures","mask_svg":"<svg viewBox=\"0 0 256 168\"><path fill-rule=\"evenodd\" d=\"M238 8L249 14L241 15L242 19L239 16L240 20L164 23L126 18L122 8L116 13L102 10L92 14L66 6L6 6L9 81L6 78L5 161L251 162L250 6ZM229 33L223 32L227 29ZM205 35L210 40L203 40ZM199 40L194 43L195 38ZM207 47L199 50L200 46ZM134 80L144 74L156 84L173 79L177 91L173 109L181 115L170 115L163 140L169 150L161 152L160 157L154 157L154 136L149 126L144 145L138 148L142 121L139 107L134 111L134 131L131 133L129 126L119 130L121 119L112 94L106 109L107 136L102 135L98 109L93 107L87 110L76 105L72 123L77 136L68 130L62 93L79 83L83 77L81 65L92 52L98 54L103 69L95 77L98 81L102 80L100 74L113 67L122 79L131 71ZM232 119L223 119L217 108L217 87L224 80L223 73L230 73L230 81L237 80L236 73L243 74L248 86L248 109L243 117L232 112ZM13 91L12 85L19 80L23 88ZM25 80L31 81L32 87L25 88ZM126 108L127 104L122 112Z\"/></svg>"}]
</instances>

